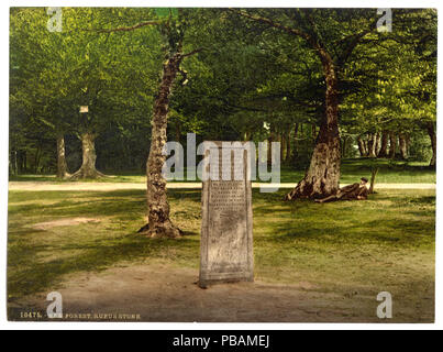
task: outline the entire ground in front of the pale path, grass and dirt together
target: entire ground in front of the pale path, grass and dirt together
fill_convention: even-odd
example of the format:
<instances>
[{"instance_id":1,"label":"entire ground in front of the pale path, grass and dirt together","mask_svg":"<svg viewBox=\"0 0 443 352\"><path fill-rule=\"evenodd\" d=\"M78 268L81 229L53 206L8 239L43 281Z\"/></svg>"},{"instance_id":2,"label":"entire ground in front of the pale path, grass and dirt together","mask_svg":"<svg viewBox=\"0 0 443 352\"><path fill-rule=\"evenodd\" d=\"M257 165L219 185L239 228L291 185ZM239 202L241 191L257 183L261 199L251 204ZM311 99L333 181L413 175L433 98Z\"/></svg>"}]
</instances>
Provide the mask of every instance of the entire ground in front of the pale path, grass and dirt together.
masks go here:
<instances>
[{"instance_id":1,"label":"entire ground in front of the pale path, grass and dirt together","mask_svg":"<svg viewBox=\"0 0 443 352\"><path fill-rule=\"evenodd\" d=\"M10 191L10 319L45 311L140 314L144 321L379 321L434 314L435 191L380 190L367 201L284 202L254 190L255 283L201 290L199 190L170 190L180 240L137 235L144 190Z\"/></svg>"}]
</instances>

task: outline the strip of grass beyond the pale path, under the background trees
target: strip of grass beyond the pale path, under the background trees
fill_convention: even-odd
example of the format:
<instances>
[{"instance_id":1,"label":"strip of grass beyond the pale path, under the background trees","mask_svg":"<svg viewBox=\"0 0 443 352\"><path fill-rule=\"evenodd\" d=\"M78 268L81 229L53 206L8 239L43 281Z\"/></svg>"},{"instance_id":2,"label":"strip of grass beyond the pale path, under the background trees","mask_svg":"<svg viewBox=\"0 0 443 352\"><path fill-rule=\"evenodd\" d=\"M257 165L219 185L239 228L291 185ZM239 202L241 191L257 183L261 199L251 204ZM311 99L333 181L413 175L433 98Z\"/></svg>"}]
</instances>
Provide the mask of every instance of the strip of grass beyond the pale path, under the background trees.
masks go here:
<instances>
[{"instance_id":1,"label":"strip of grass beyond the pale path, under the background trees","mask_svg":"<svg viewBox=\"0 0 443 352\"><path fill-rule=\"evenodd\" d=\"M373 167L379 167L377 175L378 183L386 184L434 184L436 180L435 170L427 167L425 163L398 162L390 160L353 158L342 161L343 184L353 184L361 177L370 177ZM185 172L186 175L186 172ZM291 167L281 167L281 183L297 183L304 175L303 170L296 170ZM21 175L12 176L14 182L57 182L64 183L51 175ZM100 183L145 183L143 173L112 173L112 176L100 178ZM186 182L186 180L185 180ZM192 180L189 180L192 182Z\"/></svg>"}]
</instances>

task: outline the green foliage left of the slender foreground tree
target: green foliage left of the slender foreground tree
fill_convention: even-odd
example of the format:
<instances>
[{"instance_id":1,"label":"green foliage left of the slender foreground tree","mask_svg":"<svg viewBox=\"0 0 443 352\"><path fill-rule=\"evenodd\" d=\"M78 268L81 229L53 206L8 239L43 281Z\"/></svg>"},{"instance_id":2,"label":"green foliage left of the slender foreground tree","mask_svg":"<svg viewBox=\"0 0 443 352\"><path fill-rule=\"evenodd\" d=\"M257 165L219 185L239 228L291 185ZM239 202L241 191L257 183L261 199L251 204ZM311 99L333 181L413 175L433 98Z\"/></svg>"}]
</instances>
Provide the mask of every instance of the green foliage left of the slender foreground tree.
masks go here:
<instances>
[{"instance_id":1,"label":"green foliage left of the slender foreground tree","mask_svg":"<svg viewBox=\"0 0 443 352\"><path fill-rule=\"evenodd\" d=\"M131 153L137 152L143 158L141 148L146 148L163 61L160 34L155 29L131 34L101 32L143 15L149 11L63 8L63 32L57 33L47 31L44 9L12 11L12 150L32 145L31 132L36 129L40 136L46 133L48 139L81 132L101 138L120 131L114 140L103 143L106 148L128 145L131 140L137 145ZM89 112L79 113L80 106L88 106ZM115 144L109 145L112 142ZM128 157L122 161L122 167L134 166L124 163ZM142 163L136 162L137 168Z\"/></svg>"}]
</instances>

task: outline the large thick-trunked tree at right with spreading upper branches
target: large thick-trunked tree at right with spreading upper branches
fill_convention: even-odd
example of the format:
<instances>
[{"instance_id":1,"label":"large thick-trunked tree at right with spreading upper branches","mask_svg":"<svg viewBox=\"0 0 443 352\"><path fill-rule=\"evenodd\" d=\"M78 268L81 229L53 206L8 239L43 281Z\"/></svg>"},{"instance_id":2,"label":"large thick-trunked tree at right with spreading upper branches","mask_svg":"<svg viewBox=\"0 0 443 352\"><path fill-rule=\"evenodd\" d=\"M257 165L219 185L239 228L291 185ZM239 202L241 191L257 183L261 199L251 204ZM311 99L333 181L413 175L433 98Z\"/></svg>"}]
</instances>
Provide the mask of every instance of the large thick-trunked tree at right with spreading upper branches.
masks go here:
<instances>
[{"instance_id":1,"label":"large thick-trunked tree at right with spreading upper branches","mask_svg":"<svg viewBox=\"0 0 443 352\"><path fill-rule=\"evenodd\" d=\"M287 195L297 198L322 198L340 188L340 84L346 63L355 47L369 33L376 32L374 10L281 9L246 11L232 9L241 16L302 38L317 54L325 81L324 116L317 136L309 169L298 186ZM266 12L265 14L262 14ZM354 13L353 13L354 12ZM277 13L278 19L273 19ZM340 30L333 30L340 25Z\"/></svg>"}]
</instances>

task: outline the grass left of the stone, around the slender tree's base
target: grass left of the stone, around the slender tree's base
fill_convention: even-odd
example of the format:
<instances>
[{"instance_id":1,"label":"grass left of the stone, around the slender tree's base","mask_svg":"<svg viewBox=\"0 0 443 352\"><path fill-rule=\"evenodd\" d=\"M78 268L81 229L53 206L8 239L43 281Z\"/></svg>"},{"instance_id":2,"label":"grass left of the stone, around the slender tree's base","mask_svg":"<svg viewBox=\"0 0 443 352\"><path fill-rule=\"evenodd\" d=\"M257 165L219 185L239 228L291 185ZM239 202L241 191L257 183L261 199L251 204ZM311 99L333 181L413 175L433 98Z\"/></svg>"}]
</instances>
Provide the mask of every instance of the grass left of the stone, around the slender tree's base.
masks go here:
<instances>
[{"instance_id":1,"label":"grass left of the stone, around the slender tree's base","mask_svg":"<svg viewBox=\"0 0 443 352\"><path fill-rule=\"evenodd\" d=\"M42 199L53 202L38 204ZM192 215L188 215L190 205L196 205L199 209L200 191L169 191L169 200L178 205L175 208L184 208L184 211L174 215L178 220L192 218ZM192 235L199 231L186 229L186 237L179 240L151 240L136 234L146 212L144 191L14 191L12 201L13 205L9 207L8 234L10 299L51 287L66 274L101 271L123 261L153 257L192 263L198 261L199 241ZM20 205L22 201L26 204ZM29 201L35 202L27 204ZM104 220L91 227L58 227L54 228L55 232L29 227L36 222L74 217ZM111 220L106 220L107 217ZM89 238L87 231L93 231L97 235ZM110 231L112 237L109 235ZM47 235L52 235L52 239ZM60 254L65 257L59 257ZM51 260L52 256L55 258ZM41 258L46 258L46 262Z\"/></svg>"}]
</instances>

